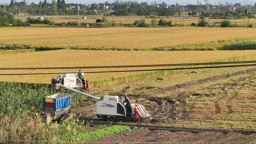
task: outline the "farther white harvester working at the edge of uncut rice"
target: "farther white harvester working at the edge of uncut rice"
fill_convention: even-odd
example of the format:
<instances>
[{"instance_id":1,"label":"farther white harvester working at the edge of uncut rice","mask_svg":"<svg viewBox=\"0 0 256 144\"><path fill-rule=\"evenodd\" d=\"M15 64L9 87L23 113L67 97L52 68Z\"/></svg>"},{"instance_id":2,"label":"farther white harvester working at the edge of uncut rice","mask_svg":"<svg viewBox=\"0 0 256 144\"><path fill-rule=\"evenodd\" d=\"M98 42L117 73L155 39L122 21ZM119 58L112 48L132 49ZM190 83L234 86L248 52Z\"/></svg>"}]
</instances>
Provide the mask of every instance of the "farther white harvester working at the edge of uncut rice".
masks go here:
<instances>
[{"instance_id":1,"label":"farther white harvester working at the edge of uncut rice","mask_svg":"<svg viewBox=\"0 0 256 144\"><path fill-rule=\"evenodd\" d=\"M57 83L69 88L80 90L87 90L92 88L88 80L77 78L75 73L60 74L57 78L52 78L52 89L56 89L55 85Z\"/></svg>"}]
</instances>

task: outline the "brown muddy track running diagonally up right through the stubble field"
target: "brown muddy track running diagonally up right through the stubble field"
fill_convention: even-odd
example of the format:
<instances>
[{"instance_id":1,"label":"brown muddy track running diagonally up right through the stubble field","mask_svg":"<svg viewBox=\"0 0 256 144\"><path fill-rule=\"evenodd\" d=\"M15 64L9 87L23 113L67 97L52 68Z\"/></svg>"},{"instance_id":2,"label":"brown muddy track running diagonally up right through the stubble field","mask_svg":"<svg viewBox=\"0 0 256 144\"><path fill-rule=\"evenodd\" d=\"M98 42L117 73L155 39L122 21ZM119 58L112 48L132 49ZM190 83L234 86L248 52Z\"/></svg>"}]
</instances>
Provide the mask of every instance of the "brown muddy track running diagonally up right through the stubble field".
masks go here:
<instances>
[{"instance_id":1,"label":"brown muddy track running diagonally up right through the stubble field","mask_svg":"<svg viewBox=\"0 0 256 144\"><path fill-rule=\"evenodd\" d=\"M207 82L211 82L211 81L218 81L220 79L226 79L226 78L230 78L230 77L233 77L233 76L238 76L238 75L242 75L242 74L246 74L248 72L254 72L254 71L256 71L256 68L248 69L248 70L244 70L244 71L239 71L239 72L234 72L234 73L222 74L222 75L218 75L218 76L212 76L212 77L202 79L202 80L197 80L197 81L184 82L184 83L181 83L181 84L176 84L176 85L165 87L165 88L159 88L158 90L149 91L147 94L149 96L154 96L154 95L157 95L157 94L165 93L167 91L177 90L177 89L184 89L184 88L191 88L193 86L200 85L200 84L203 84L203 83L207 83Z\"/></svg>"}]
</instances>

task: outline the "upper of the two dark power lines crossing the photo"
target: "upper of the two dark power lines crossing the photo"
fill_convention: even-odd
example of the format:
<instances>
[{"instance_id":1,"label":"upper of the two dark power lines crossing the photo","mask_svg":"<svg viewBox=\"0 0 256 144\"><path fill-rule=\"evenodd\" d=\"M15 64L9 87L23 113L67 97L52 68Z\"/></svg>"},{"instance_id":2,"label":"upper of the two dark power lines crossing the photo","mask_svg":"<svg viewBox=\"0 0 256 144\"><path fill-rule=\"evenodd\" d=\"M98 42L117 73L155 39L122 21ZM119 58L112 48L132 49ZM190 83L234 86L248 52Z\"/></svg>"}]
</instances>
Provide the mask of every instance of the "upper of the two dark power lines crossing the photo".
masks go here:
<instances>
[{"instance_id":1,"label":"upper of the two dark power lines crossing the photo","mask_svg":"<svg viewBox=\"0 0 256 144\"><path fill-rule=\"evenodd\" d=\"M78 67L21 67L0 68L0 70L55 70L55 69L101 69L101 68L133 68L133 67L166 67L166 66L192 66L214 64L256 63L256 61L215 62L215 63L177 63L177 64L150 64L150 65L118 65L118 66L78 66Z\"/></svg>"}]
</instances>

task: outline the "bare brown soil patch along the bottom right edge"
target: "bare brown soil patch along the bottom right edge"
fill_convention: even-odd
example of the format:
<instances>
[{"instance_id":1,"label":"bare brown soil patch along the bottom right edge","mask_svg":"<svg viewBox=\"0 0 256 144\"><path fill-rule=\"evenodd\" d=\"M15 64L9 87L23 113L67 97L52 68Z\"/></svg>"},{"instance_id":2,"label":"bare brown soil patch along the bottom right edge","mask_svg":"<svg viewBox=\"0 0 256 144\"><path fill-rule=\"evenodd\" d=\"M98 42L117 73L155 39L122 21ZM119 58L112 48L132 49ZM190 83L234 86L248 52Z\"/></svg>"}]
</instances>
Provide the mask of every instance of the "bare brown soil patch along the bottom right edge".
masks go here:
<instances>
[{"instance_id":1,"label":"bare brown soil patch along the bottom right edge","mask_svg":"<svg viewBox=\"0 0 256 144\"><path fill-rule=\"evenodd\" d=\"M137 132L131 135L111 135L99 139L94 139L90 142L99 142L100 144L107 143L127 143L127 144L224 144L224 143L239 143L252 144L256 140L256 134L243 135L241 133L223 134L219 132L170 132L167 130L149 130ZM89 143L90 143L89 142Z\"/></svg>"}]
</instances>

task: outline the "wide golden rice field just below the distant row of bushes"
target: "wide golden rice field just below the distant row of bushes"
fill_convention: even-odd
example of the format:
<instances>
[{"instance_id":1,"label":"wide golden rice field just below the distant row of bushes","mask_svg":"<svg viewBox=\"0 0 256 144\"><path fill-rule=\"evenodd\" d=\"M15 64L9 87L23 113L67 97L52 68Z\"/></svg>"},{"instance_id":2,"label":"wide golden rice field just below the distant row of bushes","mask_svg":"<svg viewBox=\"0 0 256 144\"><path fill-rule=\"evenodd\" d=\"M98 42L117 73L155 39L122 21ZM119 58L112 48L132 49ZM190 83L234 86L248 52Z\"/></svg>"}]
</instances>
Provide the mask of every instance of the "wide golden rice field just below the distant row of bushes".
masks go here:
<instances>
[{"instance_id":1,"label":"wide golden rice field just below the distant row of bushes","mask_svg":"<svg viewBox=\"0 0 256 144\"><path fill-rule=\"evenodd\" d=\"M245 27L7 27L0 28L0 33L0 43L5 44L121 49L148 49L241 37L256 38L256 28Z\"/></svg>"}]
</instances>

